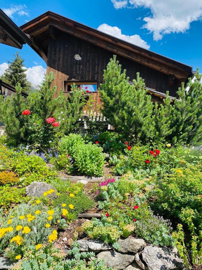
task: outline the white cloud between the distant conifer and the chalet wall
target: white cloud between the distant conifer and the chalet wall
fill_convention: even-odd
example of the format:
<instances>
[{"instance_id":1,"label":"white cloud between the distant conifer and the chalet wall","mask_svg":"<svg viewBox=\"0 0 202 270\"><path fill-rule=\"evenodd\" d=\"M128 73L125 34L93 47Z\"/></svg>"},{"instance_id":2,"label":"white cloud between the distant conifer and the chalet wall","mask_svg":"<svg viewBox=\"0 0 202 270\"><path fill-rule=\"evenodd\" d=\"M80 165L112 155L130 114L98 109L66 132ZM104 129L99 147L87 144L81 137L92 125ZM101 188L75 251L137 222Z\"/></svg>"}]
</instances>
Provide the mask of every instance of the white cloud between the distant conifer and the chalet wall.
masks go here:
<instances>
[{"instance_id":1,"label":"white cloud between the distant conifer and the chalet wall","mask_svg":"<svg viewBox=\"0 0 202 270\"><path fill-rule=\"evenodd\" d=\"M32 84L39 85L44 78L44 73L46 73L46 69L42 66L33 66L28 67L25 73L27 74L28 81L30 81Z\"/></svg>"}]
</instances>

